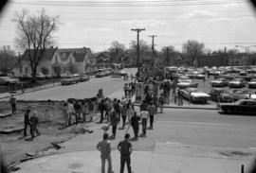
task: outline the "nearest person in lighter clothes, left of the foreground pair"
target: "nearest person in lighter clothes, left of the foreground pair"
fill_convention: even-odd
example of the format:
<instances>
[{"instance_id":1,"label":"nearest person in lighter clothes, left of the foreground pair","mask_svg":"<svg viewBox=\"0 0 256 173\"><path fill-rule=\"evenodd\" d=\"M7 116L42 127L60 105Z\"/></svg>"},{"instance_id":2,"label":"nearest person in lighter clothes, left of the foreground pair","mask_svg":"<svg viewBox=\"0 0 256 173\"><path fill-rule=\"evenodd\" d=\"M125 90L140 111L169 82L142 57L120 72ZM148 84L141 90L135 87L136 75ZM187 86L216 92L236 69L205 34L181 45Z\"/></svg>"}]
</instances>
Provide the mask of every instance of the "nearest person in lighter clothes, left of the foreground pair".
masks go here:
<instances>
[{"instance_id":1,"label":"nearest person in lighter clothes, left of the foreground pair","mask_svg":"<svg viewBox=\"0 0 256 173\"><path fill-rule=\"evenodd\" d=\"M101 152L101 173L105 173L105 162L108 163L107 173L114 173L112 170L111 161L111 144L108 141L108 134L103 134L103 139L99 142L96 148Z\"/></svg>"}]
</instances>

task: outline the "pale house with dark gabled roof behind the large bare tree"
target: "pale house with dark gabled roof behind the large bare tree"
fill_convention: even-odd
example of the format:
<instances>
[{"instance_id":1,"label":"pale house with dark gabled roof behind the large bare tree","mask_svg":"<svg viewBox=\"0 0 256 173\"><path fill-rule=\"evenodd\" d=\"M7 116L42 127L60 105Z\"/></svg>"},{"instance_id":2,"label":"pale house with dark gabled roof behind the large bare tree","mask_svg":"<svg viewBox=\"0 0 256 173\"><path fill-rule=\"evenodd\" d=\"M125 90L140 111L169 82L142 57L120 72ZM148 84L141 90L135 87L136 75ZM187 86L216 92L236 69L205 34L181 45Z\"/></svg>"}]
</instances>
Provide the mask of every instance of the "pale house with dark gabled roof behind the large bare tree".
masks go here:
<instances>
[{"instance_id":1,"label":"pale house with dark gabled roof behind the large bare tree","mask_svg":"<svg viewBox=\"0 0 256 173\"><path fill-rule=\"evenodd\" d=\"M13 69L14 75L31 75L29 53L33 50L26 50L19 62ZM43 59L37 67L38 73L45 75L59 76L60 74L75 74L87 72L87 63L91 62L91 50L82 48L58 48L46 49Z\"/></svg>"}]
</instances>

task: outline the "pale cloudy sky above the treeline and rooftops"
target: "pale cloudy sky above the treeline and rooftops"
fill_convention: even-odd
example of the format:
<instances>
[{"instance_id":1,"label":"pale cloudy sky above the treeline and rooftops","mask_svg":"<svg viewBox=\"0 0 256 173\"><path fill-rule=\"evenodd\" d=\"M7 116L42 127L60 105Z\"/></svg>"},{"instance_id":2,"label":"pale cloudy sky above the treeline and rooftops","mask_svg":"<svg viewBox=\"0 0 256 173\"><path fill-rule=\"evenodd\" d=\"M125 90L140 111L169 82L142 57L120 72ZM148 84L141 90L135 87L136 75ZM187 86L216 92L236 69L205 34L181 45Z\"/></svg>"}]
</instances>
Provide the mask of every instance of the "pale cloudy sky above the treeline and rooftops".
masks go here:
<instances>
[{"instance_id":1,"label":"pale cloudy sky above the treeline and rooftops","mask_svg":"<svg viewBox=\"0 0 256 173\"><path fill-rule=\"evenodd\" d=\"M90 47L104 51L113 41L127 48L137 41L132 28L145 28L139 37L155 48L196 40L211 50L236 48L256 51L256 11L247 0L9 0L0 14L0 47L10 45L16 52L15 11L30 13L46 9L59 15L61 25L54 33L60 48ZM236 45L239 45L235 47ZM241 45L241 46L240 46Z\"/></svg>"}]
</instances>

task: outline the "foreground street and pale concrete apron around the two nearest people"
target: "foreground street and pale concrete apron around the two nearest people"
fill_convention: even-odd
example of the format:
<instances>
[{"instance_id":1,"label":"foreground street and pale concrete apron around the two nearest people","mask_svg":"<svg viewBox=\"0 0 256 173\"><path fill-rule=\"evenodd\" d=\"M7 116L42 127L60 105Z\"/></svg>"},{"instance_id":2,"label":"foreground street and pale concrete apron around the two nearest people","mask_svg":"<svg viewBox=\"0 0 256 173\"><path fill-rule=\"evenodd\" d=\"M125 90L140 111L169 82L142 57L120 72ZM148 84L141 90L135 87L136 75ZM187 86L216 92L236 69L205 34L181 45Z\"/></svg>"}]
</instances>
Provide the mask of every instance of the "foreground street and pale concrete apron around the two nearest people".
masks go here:
<instances>
[{"instance_id":1,"label":"foreground street and pale concrete apron around the two nearest people","mask_svg":"<svg viewBox=\"0 0 256 173\"><path fill-rule=\"evenodd\" d=\"M254 116L168 109L155 115L155 130L148 130L147 137L133 142L132 165L135 172L145 173L239 172L241 164L246 164L247 168L252 160L256 148L255 124ZM100 153L95 151L95 145L101 140L101 126L90 125L94 133L64 142L65 148L59 152L68 152L68 156L64 154L34 160L31 164L22 164L22 170L61 172L64 170L62 166L50 164L51 167L46 167L44 164L56 162L61 165L64 162L62 158L68 157L70 159L65 165L69 172L100 172ZM129 132L133 134L132 130ZM116 147L124 133L125 130L118 130L117 139L112 141L115 172L119 170ZM77 167L70 168L70 165Z\"/></svg>"}]
</instances>

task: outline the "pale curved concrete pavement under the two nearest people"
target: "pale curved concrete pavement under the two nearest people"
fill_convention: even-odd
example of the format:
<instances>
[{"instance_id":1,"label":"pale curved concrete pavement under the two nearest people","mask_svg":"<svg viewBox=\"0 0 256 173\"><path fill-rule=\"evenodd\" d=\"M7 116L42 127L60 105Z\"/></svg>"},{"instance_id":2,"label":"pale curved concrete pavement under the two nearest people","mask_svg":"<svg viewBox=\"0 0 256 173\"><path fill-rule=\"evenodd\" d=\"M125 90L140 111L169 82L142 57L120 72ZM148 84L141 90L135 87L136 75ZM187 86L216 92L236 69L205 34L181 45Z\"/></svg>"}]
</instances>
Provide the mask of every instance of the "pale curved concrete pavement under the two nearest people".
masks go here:
<instances>
[{"instance_id":1,"label":"pale curved concrete pavement under the two nearest people","mask_svg":"<svg viewBox=\"0 0 256 173\"><path fill-rule=\"evenodd\" d=\"M131 155L132 169L138 173L228 173L245 170L250 160L228 159L215 152L192 150L175 144L156 143L151 151L134 151ZM119 172L119 151L111 152L114 172ZM100 152L97 150L75 151L45 156L18 165L17 173L101 173ZM106 164L107 167L107 164ZM125 167L125 172L127 172Z\"/></svg>"}]
</instances>

